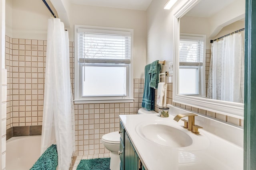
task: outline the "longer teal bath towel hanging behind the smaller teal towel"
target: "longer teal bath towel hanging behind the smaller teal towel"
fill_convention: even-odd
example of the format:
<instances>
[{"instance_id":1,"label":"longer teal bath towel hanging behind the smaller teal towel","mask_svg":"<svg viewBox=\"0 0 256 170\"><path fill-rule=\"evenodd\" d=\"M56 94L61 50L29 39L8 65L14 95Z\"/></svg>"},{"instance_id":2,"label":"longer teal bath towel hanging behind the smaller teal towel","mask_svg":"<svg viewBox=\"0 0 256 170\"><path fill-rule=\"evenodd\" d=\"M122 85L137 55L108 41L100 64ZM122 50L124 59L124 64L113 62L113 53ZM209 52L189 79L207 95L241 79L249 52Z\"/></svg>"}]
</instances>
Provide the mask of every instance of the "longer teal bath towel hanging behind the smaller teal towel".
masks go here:
<instances>
[{"instance_id":1,"label":"longer teal bath towel hanging behind the smaller teal towel","mask_svg":"<svg viewBox=\"0 0 256 170\"><path fill-rule=\"evenodd\" d=\"M145 66L145 84L142 98L142 107L146 110L154 110L155 90L154 88L149 87L151 77L151 74L148 74L149 69L150 64Z\"/></svg>"}]
</instances>

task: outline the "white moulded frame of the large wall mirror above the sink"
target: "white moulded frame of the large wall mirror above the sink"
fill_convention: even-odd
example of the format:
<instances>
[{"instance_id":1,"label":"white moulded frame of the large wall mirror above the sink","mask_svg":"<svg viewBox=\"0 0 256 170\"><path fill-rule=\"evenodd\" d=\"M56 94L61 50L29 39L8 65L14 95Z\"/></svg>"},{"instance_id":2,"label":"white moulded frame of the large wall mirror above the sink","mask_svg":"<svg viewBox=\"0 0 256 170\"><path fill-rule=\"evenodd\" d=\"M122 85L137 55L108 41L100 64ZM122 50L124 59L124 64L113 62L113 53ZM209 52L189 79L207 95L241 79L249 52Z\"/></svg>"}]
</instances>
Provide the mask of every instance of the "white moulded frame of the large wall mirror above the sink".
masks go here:
<instances>
[{"instance_id":1,"label":"white moulded frame of the large wall mirror above the sink","mask_svg":"<svg viewBox=\"0 0 256 170\"><path fill-rule=\"evenodd\" d=\"M214 100L208 98L199 98L194 96L185 96L178 94L179 82L179 36L180 36L180 20L191 8L193 8L200 0L188 0L180 9L174 13L173 18L173 102L192 106L215 113L244 119L244 104L227 102L222 100Z\"/></svg>"}]
</instances>

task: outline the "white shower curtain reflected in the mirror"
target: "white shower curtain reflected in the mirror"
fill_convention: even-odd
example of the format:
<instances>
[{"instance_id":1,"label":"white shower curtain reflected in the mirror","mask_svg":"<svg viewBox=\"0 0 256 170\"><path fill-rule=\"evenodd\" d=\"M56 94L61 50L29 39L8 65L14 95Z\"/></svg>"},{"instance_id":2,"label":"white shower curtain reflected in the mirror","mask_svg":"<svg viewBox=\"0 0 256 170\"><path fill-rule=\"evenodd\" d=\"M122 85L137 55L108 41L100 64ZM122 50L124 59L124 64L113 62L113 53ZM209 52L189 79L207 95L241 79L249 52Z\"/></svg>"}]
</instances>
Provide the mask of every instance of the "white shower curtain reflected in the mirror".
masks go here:
<instances>
[{"instance_id":1,"label":"white shower curtain reflected in the mirror","mask_svg":"<svg viewBox=\"0 0 256 170\"><path fill-rule=\"evenodd\" d=\"M207 98L244 102L244 48L240 33L213 42Z\"/></svg>"}]
</instances>

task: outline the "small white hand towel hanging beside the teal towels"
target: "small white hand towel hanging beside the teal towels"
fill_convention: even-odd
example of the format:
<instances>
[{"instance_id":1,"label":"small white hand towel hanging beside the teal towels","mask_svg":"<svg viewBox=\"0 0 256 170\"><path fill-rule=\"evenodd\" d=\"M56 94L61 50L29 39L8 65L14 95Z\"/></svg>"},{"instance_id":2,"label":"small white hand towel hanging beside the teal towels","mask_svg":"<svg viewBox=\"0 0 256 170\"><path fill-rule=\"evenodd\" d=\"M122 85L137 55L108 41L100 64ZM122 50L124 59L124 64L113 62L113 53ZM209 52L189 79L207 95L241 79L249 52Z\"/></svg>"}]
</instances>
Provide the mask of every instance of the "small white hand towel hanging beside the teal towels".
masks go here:
<instances>
[{"instance_id":1,"label":"small white hand towel hanging beside the teal towels","mask_svg":"<svg viewBox=\"0 0 256 170\"><path fill-rule=\"evenodd\" d=\"M164 82L158 83L156 104L166 107L167 85Z\"/></svg>"}]
</instances>

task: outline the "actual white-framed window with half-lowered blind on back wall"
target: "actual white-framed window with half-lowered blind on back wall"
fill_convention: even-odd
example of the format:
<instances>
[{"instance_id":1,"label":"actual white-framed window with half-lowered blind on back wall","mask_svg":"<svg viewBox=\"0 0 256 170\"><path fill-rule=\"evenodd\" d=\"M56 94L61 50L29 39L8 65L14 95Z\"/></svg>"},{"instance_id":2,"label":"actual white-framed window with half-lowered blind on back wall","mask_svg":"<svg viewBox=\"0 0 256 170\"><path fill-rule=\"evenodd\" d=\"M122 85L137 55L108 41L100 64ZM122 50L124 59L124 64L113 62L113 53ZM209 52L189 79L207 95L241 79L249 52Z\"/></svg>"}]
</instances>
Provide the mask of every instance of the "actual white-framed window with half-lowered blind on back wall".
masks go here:
<instances>
[{"instance_id":1,"label":"actual white-framed window with half-lowered blind on back wall","mask_svg":"<svg viewBox=\"0 0 256 170\"><path fill-rule=\"evenodd\" d=\"M132 29L75 25L75 103L132 102Z\"/></svg>"}]
</instances>

